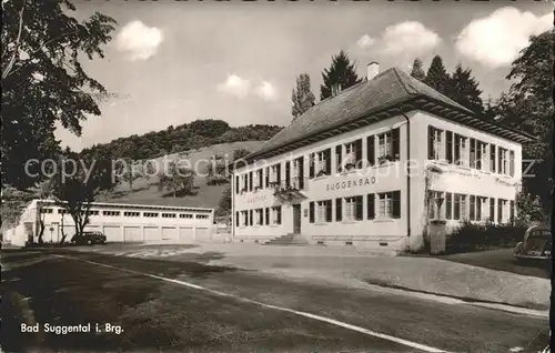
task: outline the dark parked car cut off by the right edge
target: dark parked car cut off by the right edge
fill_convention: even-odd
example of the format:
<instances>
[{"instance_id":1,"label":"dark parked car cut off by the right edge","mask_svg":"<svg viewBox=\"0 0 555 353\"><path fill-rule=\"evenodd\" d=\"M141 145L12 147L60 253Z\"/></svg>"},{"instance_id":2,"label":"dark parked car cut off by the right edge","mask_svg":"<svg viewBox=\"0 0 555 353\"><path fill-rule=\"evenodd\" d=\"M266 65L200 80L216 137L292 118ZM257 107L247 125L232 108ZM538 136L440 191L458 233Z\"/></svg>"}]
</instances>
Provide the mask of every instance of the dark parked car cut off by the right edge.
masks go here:
<instances>
[{"instance_id":1,"label":"dark parked car cut off by the right edge","mask_svg":"<svg viewBox=\"0 0 555 353\"><path fill-rule=\"evenodd\" d=\"M516 244L513 256L516 259L552 259L553 236L547 225L533 225L524 233L524 240Z\"/></svg>"}]
</instances>

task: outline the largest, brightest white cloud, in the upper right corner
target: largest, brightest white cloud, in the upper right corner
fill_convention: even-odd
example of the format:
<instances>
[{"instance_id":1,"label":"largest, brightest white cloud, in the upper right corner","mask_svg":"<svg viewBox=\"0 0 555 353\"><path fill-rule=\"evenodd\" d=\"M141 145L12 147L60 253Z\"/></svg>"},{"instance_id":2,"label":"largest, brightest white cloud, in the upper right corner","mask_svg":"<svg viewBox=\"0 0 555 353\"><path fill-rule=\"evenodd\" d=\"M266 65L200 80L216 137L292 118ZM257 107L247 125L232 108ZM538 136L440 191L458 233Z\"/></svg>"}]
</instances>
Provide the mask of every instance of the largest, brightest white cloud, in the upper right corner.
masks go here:
<instances>
[{"instance_id":1,"label":"largest, brightest white cloud, in the upper right corner","mask_svg":"<svg viewBox=\"0 0 555 353\"><path fill-rule=\"evenodd\" d=\"M528 44L529 36L552 26L551 13L536 17L515 8L502 8L471 21L458 34L455 47L464 57L495 69L511 64Z\"/></svg>"}]
</instances>

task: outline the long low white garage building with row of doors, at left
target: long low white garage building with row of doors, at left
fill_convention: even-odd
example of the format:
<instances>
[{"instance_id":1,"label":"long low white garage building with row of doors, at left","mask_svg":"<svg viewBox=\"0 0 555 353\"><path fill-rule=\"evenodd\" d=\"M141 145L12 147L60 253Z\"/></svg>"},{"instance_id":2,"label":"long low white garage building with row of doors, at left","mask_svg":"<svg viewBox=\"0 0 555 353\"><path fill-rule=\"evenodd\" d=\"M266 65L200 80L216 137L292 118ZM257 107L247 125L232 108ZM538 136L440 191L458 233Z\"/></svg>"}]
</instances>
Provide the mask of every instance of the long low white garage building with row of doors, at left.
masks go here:
<instances>
[{"instance_id":1,"label":"long low white garage building with row of doors, at left","mask_svg":"<svg viewBox=\"0 0 555 353\"><path fill-rule=\"evenodd\" d=\"M33 200L19 224L4 232L4 241L19 246L29 239L38 241L41 220L44 242L60 242L63 234L70 241L75 233L73 219L62 206L50 200ZM213 209L94 202L84 231L102 232L108 242L209 241L213 220Z\"/></svg>"}]
</instances>

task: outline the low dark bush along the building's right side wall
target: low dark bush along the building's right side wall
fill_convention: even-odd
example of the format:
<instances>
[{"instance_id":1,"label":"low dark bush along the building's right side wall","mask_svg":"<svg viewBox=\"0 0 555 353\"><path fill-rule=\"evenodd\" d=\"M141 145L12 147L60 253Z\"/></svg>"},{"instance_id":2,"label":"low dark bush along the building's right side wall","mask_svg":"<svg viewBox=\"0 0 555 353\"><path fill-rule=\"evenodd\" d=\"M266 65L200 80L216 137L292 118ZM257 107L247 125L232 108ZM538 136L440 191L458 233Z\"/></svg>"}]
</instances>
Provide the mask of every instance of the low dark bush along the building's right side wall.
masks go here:
<instances>
[{"instance_id":1,"label":"low dark bush along the building's right side wall","mask_svg":"<svg viewBox=\"0 0 555 353\"><path fill-rule=\"evenodd\" d=\"M460 253L512 248L521 242L527 225L464 223L447 236L446 252Z\"/></svg>"}]
</instances>

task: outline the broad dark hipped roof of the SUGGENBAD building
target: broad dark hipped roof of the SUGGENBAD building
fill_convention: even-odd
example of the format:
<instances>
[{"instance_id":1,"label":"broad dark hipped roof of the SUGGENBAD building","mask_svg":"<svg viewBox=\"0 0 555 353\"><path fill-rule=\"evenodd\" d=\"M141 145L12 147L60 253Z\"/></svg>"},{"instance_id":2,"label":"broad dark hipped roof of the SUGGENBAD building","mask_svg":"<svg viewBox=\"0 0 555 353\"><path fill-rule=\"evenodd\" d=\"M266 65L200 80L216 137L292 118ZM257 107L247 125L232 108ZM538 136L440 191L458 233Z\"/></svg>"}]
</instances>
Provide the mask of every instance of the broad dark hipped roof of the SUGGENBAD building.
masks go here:
<instances>
[{"instance_id":1,"label":"broad dark hipped roof of the SUGGENBAD building","mask_svg":"<svg viewBox=\"0 0 555 353\"><path fill-rule=\"evenodd\" d=\"M397 68L355 84L340 94L323 100L295 119L248 161L275 155L317 140L323 140L364 124L387 119L415 109L497 134L508 140L527 142L534 139L523 132L478 119L474 112L441 94ZM319 137L320 135L320 137Z\"/></svg>"}]
</instances>

